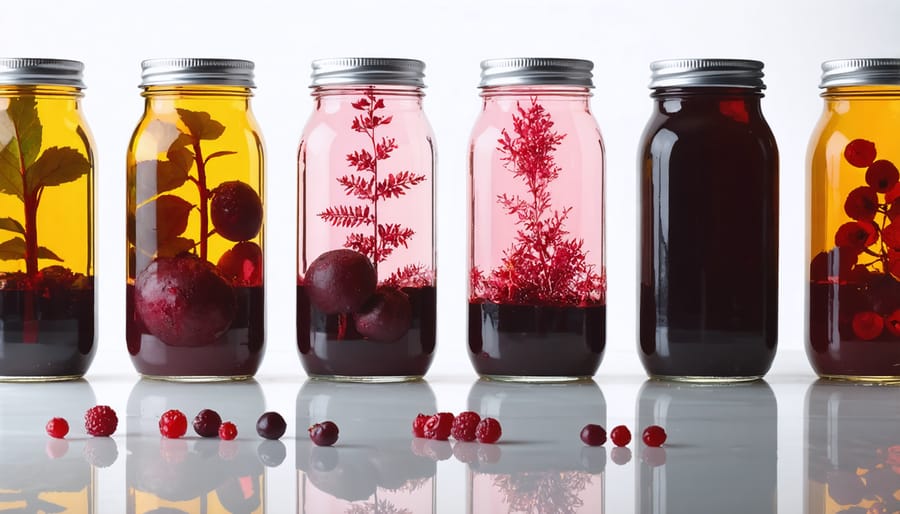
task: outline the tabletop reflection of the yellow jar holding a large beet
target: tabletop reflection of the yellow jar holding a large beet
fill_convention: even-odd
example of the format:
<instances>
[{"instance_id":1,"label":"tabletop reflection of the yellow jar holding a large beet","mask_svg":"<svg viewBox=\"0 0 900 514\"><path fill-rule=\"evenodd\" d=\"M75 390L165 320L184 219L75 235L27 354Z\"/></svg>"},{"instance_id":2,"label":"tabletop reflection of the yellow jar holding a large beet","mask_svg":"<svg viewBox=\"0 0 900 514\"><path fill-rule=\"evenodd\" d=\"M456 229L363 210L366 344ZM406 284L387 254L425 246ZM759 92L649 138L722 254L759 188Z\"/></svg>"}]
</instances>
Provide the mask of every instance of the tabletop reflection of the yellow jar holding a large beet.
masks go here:
<instances>
[{"instance_id":1,"label":"tabletop reflection of the yellow jar holding a large beet","mask_svg":"<svg viewBox=\"0 0 900 514\"><path fill-rule=\"evenodd\" d=\"M182 411L190 422L213 409L238 427L233 441L202 439L189 427L181 439L159 434L159 417ZM264 514L265 472L257 456L256 420L262 388L241 383L174 384L141 380L128 398L128 512ZM252 434L252 435L250 435Z\"/></svg>"}]
</instances>

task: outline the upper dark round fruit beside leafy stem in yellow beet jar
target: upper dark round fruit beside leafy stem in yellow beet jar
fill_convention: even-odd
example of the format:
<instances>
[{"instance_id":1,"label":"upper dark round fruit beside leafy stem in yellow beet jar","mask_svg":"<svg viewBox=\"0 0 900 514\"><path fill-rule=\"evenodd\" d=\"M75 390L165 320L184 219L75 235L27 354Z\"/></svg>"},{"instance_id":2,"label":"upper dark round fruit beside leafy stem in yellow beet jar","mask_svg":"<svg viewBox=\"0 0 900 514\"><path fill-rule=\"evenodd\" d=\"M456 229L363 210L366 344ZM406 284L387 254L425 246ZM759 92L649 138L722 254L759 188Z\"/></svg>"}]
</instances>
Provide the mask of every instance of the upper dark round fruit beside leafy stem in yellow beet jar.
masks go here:
<instances>
[{"instance_id":1,"label":"upper dark round fruit beside leafy stem in yellow beet jar","mask_svg":"<svg viewBox=\"0 0 900 514\"><path fill-rule=\"evenodd\" d=\"M262 202L249 185L233 180L210 192L209 217L216 232L229 241L247 241L262 227Z\"/></svg>"}]
</instances>

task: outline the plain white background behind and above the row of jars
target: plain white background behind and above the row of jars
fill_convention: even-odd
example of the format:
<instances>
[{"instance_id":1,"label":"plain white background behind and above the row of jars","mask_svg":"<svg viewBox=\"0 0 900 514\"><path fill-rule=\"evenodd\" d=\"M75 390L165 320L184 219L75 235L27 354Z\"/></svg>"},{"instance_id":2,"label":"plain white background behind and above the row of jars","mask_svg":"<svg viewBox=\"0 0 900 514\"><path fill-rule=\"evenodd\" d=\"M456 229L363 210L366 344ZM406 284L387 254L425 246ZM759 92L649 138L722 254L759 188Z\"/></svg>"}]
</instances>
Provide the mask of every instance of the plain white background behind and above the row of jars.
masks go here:
<instances>
[{"instance_id":1,"label":"plain white background behind and above the row of jars","mask_svg":"<svg viewBox=\"0 0 900 514\"><path fill-rule=\"evenodd\" d=\"M237 57L257 64L253 109L267 150L268 356L262 373L302 376L295 351L296 149L312 109L309 63L333 56L427 63L425 108L437 135L439 342L433 375L471 374L465 347L466 144L480 108L479 62L560 56L595 62L594 114L607 156L610 352L635 350L636 152L651 100L651 60L741 57L766 63L763 100L781 151L780 353L802 359L805 152L819 116L819 65L900 55L894 0L3 2L0 54L84 61L96 139L99 352L91 375L130 372L124 340L125 149L142 111L140 61ZM739 270L736 270L739 273ZM791 351L793 350L793 351ZM601 366L600 375L610 372ZM616 372L622 371L616 369Z\"/></svg>"}]
</instances>

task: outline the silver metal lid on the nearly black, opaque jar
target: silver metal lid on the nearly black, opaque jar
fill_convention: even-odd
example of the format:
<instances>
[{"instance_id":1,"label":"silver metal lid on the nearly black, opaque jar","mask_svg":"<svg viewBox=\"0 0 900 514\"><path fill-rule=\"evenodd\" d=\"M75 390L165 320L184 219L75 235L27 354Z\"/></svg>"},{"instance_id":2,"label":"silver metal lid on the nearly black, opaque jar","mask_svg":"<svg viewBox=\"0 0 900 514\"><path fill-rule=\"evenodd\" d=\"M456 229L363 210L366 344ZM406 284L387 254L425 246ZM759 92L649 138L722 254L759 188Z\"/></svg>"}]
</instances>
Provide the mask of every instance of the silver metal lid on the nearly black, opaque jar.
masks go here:
<instances>
[{"instance_id":1,"label":"silver metal lid on the nearly black, opaque jar","mask_svg":"<svg viewBox=\"0 0 900 514\"><path fill-rule=\"evenodd\" d=\"M762 69L762 62L746 59L668 59L650 63L649 87L765 89Z\"/></svg>"}]
</instances>

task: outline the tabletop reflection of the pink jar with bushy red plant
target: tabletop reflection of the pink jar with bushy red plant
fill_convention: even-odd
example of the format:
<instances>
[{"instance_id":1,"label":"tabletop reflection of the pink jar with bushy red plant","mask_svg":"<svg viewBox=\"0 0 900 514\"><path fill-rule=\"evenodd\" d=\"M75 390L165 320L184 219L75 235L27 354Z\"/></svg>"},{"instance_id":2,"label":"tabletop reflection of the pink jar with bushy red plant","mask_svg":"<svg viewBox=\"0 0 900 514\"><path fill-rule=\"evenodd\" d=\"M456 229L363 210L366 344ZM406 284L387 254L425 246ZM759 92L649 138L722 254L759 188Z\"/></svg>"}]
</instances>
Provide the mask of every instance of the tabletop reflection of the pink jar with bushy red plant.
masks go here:
<instances>
[{"instance_id":1,"label":"tabletop reflection of the pink jar with bushy red plant","mask_svg":"<svg viewBox=\"0 0 900 514\"><path fill-rule=\"evenodd\" d=\"M454 447L469 465L469 514L603 512L606 449L573 436L588 423L606 423L606 401L595 382L479 380L468 408L503 424L500 443L475 445L475 458L460 451L474 443Z\"/></svg>"}]
</instances>

